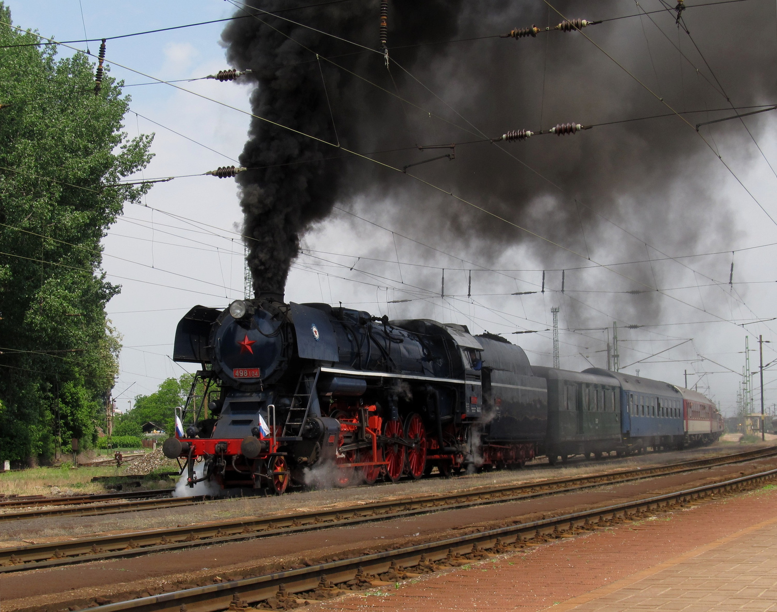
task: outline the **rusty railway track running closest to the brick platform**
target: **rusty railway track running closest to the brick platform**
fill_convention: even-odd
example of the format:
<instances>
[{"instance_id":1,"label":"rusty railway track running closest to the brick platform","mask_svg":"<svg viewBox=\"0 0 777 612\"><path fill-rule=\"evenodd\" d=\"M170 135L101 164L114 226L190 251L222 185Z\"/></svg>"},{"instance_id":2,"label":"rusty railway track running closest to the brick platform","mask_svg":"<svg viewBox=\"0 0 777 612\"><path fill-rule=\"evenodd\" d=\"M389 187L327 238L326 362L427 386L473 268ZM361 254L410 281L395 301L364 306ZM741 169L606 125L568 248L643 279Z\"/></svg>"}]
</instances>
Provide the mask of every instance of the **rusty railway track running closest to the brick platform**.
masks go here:
<instances>
[{"instance_id":1,"label":"rusty railway track running closest to the brick platform","mask_svg":"<svg viewBox=\"0 0 777 612\"><path fill-rule=\"evenodd\" d=\"M430 541L406 548L359 555L299 569L220 582L207 586L107 603L101 612L218 612L253 610L249 605L270 600L267 607L297 607L338 594L389 585L439 569L456 567L523 548L532 540L569 537L586 530L611 527L657 511L687 506L695 500L760 486L777 478L777 469L683 489L666 495L619 503L604 508L483 530L460 537ZM292 604L292 605L289 605ZM72 609L72 608L71 608ZM87 608L84 608L86 610ZM93 609L93 607L89 607Z\"/></svg>"}]
</instances>

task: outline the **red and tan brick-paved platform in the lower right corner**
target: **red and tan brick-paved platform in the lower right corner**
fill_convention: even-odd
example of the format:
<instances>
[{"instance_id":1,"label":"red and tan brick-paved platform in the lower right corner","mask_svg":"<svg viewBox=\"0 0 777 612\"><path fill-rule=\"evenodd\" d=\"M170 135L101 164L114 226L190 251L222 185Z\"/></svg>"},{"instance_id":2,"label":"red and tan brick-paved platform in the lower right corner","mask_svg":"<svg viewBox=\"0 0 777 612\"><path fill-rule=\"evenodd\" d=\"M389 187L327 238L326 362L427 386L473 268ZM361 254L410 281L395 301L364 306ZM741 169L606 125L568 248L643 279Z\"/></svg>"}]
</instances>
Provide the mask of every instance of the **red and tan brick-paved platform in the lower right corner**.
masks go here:
<instances>
[{"instance_id":1,"label":"red and tan brick-paved platform in the lower right corner","mask_svg":"<svg viewBox=\"0 0 777 612\"><path fill-rule=\"evenodd\" d=\"M660 513L306 610L777 612L777 489Z\"/></svg>"}]
</instances>

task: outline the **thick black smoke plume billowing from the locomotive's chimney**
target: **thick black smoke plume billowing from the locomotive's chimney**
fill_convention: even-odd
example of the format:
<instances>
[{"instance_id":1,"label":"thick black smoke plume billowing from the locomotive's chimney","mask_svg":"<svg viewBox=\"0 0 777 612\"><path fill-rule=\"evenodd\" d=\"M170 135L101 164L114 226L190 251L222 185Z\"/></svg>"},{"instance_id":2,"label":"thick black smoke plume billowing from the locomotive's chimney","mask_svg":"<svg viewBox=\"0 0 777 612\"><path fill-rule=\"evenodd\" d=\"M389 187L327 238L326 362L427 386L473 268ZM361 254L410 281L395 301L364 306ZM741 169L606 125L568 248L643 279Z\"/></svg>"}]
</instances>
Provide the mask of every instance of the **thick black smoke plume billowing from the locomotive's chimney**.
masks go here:
<instances>
[{"instance_id":1,"label":"thick black smoke plume billowing from the locomotive's chimney","mask_svg":"<svg viewBox=\"0 0 777 612\"><path fill-rule=\"evenodd\" d=\"M379 50L379 4L351 0L280 15ZM565 0L554 6L566 17L589 20L640 10L614 1ZM662 6L653 2L646 10ZM281 0L250 0L246 7L291 8ZM246 17L247 12L255 16ZM670 112L579 32L493 37L515 26L559 23L559 14L544 2L392 0L389 52L397 63L390 72L381 54L305 26L249 8L235 16L243 18L230 23L223 39L228 61L253 70L253 113L354 151L388 151L371 157L400 169L448 152L420 151L418 145ZM774 32L758 26L773 23L773 11L741 2L688 9L683 19L693 42L675 26L671 12L589 26L584 33L681 112L725 109L723 92L737 106L774 103ZM726 114L731 112L685 116L698 123ZM765 125L763 117L747 120L755 137ZM702 127L700 133L720 145L724 156L737 158L739 169L756 151L749 137L740 139L744 131L738 121ZM372 206L374 216L390 219L394 227L412 227L427 242L460 252L498 259L507 246L531 240L526 244L542 263L580 263L569 252L401 172L354 159L267 121L252 120L240 162L249 168L238 181L245 232L253 238L249 264L257 291L282 292L301 235L337 202ZM677 117L535 136L499 147L459 144L454 161L430 162L408 172L593 259L644 259L644 242L688 252L726 242L733 231L719 193L726 170ZM742 201L755 206L744 193ZM600 215L629 225L637 238L616 231ZM630 273L653 282L649 269ZM639 299L650 304L646 297Z\"/></svg>"}]
</instances>

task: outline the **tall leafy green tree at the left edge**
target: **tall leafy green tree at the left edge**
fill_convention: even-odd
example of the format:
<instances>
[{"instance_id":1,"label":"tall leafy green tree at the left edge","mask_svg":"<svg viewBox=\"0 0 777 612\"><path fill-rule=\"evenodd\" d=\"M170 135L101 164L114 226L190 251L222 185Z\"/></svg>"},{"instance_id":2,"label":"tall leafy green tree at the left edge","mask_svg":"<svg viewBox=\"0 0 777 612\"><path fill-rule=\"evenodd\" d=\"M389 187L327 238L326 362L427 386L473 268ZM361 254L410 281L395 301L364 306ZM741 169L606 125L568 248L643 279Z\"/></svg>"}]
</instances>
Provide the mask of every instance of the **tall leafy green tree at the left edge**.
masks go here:
<instances>
[{"instance_id":1,"label":"tall leafy green tree at the left edge","mask_svg":"<svg viewBox=\"0 0 777 612\"><path fill-rule=\"evenodd\" d=\"M129 97L85 54L57 56L0 1L0 457L92 443L118 371L105 305L120 287L100 240L148 186L152 135L122 131ZM14 46L16 45L16 46ZM31 45L31 46L30 46Z\"/></svg>"}]
</instances>

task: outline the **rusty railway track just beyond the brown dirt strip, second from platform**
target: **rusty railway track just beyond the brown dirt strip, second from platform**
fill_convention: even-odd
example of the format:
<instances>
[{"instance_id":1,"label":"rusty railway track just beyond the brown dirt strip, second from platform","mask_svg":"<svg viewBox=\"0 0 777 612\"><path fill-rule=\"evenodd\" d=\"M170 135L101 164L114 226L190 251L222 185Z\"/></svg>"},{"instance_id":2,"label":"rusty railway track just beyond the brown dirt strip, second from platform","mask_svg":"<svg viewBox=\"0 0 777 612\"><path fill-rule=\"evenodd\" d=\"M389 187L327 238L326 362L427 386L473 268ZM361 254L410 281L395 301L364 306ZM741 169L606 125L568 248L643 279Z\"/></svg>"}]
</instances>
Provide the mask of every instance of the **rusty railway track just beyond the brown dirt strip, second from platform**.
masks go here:
<instances>
[{"instance_id":1,"label":"rusty railway track just beyond the brown dirt strip, second from platform","mask_svg":"<svg viewBox=\"0 0 777 612\"><path fill-rule=\"evenodd\" d=\"M462 492L414 496L409 499L392 499L346 508L323 509L318 512L296 512L280 516L224 520L186 527L133 531L125 534L0 548L0 573L108 558L147 555L153 552L193 548L198 545L221 544L305 530L351 526L357 523L413 516L444 509L460 509L532 499L564 492L577 492L602 485L633 482L657 475L673 475L716 465L736 464L775 456L777 456L777 447L768 447L653 468L636 468L544 482L481 487Z\"/></svg>"}]
</instances>

